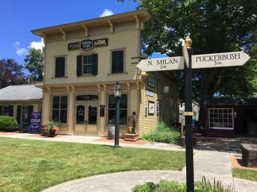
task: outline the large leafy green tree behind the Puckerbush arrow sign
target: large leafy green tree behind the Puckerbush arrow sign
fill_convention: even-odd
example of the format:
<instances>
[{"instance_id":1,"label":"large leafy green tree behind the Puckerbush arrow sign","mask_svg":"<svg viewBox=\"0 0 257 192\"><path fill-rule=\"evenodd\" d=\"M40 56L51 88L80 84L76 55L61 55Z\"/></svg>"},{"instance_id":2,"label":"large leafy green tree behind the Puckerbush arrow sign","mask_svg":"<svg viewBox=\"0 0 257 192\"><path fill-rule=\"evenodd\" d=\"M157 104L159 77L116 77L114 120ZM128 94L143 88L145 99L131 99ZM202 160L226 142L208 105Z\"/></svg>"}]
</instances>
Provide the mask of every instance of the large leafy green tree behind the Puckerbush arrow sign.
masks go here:
<instances>
[{"instance_id":1,"label":"large leafy green tree behind the Puckerbush arrow sign","mask_svg":"<svg viewBox=\"0 0 257 192\"><path fill-rule=\"evenodd\" d=\"M123 2L123 0L119 0ZM134 1L135 2L135 1ZM190 33L194 54L244 51L251 59L243 67L195 69L193 100L200 106L199 121L205 126L204 102L214 97L256 96L256 0L139 0L138 8L149 8L145 22L143 51L181 56L181 38ZM172 71L181 82L183 71ZM181 89L181 102L184 97Z\"/></svg>"}]
</instances>

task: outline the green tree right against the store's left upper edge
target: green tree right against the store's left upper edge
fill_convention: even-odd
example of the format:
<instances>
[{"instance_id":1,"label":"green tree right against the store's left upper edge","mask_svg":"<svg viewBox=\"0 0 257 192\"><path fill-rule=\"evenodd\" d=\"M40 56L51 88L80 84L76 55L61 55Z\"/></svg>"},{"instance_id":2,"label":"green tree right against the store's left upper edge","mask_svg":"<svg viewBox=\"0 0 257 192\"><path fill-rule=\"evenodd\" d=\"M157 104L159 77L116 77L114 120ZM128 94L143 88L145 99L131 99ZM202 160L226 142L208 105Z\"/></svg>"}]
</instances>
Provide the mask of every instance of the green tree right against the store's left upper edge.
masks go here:
<instances>
[{"instance_id":1,"label":"green tree right against the store's left upper edge","mask_svg":"<svg viewBox=\"0 0 257 192\"><path fill-rule=\"evenodd\" d=\"M43 80L43 60L44 60L44 49L30 49L28 54L25 56L25 68L29 71L30 82Z\"/></svg>"}]
</instances>

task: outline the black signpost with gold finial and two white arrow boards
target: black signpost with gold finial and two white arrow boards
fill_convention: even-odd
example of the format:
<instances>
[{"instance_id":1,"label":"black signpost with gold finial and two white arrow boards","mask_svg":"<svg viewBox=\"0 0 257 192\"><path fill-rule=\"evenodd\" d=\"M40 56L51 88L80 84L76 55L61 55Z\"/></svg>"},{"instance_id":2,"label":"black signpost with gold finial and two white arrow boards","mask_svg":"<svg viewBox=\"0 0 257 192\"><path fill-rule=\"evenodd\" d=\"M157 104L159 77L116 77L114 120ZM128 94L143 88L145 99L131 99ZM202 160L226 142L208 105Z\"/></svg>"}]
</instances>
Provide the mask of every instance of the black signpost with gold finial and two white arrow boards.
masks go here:
<instances>
[{"instance_id":1,"label":"black signpost with gold finial and two white arrow boards","mask_svg":"<svg viewBox=\"0 0 257 192\"><path fill-rule=\"evenodd\" d=\"M243 66L249 56L243 51L228 53L213 53L192 55L192 40L189 36L182 41L183 57L166 57L143 59L137 68L142 72L167 71L185 69L185 132L186 132L186 170L187 191L194 191L194 163L193 163L193 130L192 130L192 69ZM185 64L184 64L185 59ZM147 108L146 108L147 110Z\"/></svg>"}]
</instances>

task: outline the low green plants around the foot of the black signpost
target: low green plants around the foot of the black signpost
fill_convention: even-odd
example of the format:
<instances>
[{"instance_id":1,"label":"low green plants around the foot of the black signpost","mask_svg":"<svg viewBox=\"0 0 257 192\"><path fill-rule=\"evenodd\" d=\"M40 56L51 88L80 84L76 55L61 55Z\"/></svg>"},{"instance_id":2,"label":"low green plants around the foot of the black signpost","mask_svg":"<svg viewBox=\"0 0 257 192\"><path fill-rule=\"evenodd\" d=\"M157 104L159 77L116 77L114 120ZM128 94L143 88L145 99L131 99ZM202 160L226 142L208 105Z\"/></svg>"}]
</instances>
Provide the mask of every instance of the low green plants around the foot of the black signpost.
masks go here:
<instances>
[{"instance_id":1,"label":"low green plants around the foot of the black signpost","mask_svg":"<svg viewBox=\"0 0 257 192\"><path fill-rule=\"evenodd\" d=\"M152 182L145 182L143 185L136 185L132 192L186 192L187 187L175 181L160 181L158 184ZM231 186L224 188L220 181L215 181L213 185L205 177L201 182L195 182L195 192L232 192Z\"/></svg>"}]
</instances>

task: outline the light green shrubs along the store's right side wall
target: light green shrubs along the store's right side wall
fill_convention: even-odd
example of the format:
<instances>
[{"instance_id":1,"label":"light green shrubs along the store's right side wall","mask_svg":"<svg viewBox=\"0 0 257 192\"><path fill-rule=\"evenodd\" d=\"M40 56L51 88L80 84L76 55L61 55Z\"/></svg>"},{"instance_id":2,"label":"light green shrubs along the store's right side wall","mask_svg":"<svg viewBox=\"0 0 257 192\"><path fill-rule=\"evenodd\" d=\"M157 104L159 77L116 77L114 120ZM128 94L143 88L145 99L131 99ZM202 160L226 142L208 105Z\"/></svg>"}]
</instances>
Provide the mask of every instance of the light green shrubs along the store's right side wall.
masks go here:
<instances>
[{"instance_id":1,"label":"light green shrubs along the store's right side wall","mask_svg":"<svg viewBox=\"0 0 257 192\"><path fill-rule=\"evenodd\" d=\"M161 143L178 144L179 132L166 123L160 122L157 129L149 134L144 134L142 139Z\"/></svg>"}]
</instances>

